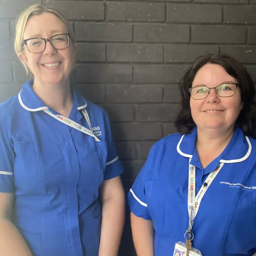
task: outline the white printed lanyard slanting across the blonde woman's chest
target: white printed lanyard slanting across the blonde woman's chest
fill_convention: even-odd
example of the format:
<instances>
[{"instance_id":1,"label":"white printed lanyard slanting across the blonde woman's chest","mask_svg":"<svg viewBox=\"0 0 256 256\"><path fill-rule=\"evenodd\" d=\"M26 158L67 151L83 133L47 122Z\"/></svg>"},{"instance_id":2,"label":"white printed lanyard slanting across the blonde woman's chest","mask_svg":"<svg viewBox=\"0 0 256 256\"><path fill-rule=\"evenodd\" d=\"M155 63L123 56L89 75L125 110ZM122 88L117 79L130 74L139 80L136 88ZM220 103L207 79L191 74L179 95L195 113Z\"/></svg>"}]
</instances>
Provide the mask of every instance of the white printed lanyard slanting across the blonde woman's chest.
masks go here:
<instances>
[{"instance_id":1,"label":"white printed lanyard slanting across the blonde woman's chest","mask_svg":"<svg viewBox=\"0 0 256 256\"><path fill-rule=\"evenodd\" d=\"M90 122L90 119L89 119L89 116L88 116L88 113L86 111L85 108L82 109L82 113L84 114L84 117L90 127L90 130L87 129L86 127L78 124L77 122L69 119L69 118L66 118L65 116L62 116L62 115L55 115L55 114L52 114L52 112L50 111L50 109L44 109L43 110L44 112L46 112L46 114L52 116L53 118L55 118L56 120L68 125L68 126L71 126L72 128L75 128L76 130L80 131L80 132L83 132L85 134L88 134L90 136L92 136L96 141L100 141L93 133L93 130L92 130L92 124Z\"/></svg>"}]
</instances>

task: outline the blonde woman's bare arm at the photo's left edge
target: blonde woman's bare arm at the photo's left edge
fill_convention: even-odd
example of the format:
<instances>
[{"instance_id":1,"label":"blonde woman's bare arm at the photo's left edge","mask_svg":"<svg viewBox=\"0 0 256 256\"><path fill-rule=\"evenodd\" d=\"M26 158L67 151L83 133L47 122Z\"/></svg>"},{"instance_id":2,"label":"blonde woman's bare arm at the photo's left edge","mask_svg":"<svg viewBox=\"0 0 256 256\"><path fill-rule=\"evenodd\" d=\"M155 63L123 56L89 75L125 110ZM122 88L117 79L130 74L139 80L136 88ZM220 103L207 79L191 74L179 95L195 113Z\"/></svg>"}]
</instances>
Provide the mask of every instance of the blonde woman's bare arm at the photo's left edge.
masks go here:
<instances>
[{"instance_id":1,"label":"blonde woman's bare arm at the photo's left edge","mask_svg":"<svg viewBox=\"0 0 256 256\"><path fill-rule=\"evenodd\" d=\"M18 229L10 221L12 193L0 193L0 255L32 256Z\"/></svg>"}]
</instances>

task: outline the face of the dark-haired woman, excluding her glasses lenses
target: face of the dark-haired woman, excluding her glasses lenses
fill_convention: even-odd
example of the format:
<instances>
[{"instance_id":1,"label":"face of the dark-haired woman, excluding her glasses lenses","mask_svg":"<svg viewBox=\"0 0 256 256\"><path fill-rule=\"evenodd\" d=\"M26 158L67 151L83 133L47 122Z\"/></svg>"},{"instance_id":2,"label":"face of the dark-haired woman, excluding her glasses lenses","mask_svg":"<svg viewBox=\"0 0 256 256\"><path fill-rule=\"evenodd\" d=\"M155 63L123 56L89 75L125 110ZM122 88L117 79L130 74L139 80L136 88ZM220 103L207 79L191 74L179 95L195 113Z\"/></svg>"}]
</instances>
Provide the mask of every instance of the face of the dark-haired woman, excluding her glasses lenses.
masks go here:
<instances>
[{"instance_id":1,"label":"face of the dark-haired woman, excluding her glasses lenses","mask_svg":"<svg viewBox=\"0 0 256 256\"><path fill-rule=\"evenodd\" d=\"M238 81L222 66L206 64L196 73L192 87L216 87L227 82L237 83ZM231 97L220 97L214 89L211 89L204 99L195 100L190 96L192 118L199 129L233 128L242 107L239 87Z\"/></svg>"}]
</instances>

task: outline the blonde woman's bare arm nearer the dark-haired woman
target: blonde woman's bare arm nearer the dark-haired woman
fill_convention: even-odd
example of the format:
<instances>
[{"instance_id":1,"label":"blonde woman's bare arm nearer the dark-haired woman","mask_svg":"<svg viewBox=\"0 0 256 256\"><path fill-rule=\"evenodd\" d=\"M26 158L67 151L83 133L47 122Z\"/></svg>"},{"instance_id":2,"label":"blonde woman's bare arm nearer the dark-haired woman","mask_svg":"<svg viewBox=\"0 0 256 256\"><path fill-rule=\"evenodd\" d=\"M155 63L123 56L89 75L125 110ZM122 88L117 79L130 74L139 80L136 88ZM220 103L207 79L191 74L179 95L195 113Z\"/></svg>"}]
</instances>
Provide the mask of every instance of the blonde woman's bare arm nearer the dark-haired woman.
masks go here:
<instances>
[{"instance_id":1,"label":"blonde woman's bare arm nearer the dark-haired woman","mask_svg":"<svg viewBox=\"0 0 256 256\"><path fill-rule=\"evenodd\" d=\"M102 224L99 256L117 256L124 227L125 199L119 176L105 180L100 188Z\"/></svg>"}]
</instances>

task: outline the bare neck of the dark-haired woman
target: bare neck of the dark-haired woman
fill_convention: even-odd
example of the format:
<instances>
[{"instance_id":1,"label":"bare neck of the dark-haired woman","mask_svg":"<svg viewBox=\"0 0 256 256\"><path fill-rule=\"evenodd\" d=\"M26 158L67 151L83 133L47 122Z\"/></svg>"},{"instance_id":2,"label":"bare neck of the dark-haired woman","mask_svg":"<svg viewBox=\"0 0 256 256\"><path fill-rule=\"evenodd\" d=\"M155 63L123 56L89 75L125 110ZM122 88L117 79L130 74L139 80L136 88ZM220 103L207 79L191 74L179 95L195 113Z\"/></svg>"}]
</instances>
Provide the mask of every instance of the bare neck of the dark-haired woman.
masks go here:
<instances>
[{"instance_id":1,"label":"bare neck of the dark-haired woman","mask_svg":"<svg viewBox=\"0 0 256 256\"><path fill-rule=\"evenodd\" d=\"M196 148L208 150L221 150L223 151L228 142L230 142L234 134L234 127L219 130L200 130L198 128L198 136Z\"/></svg>"}]
</instances>

